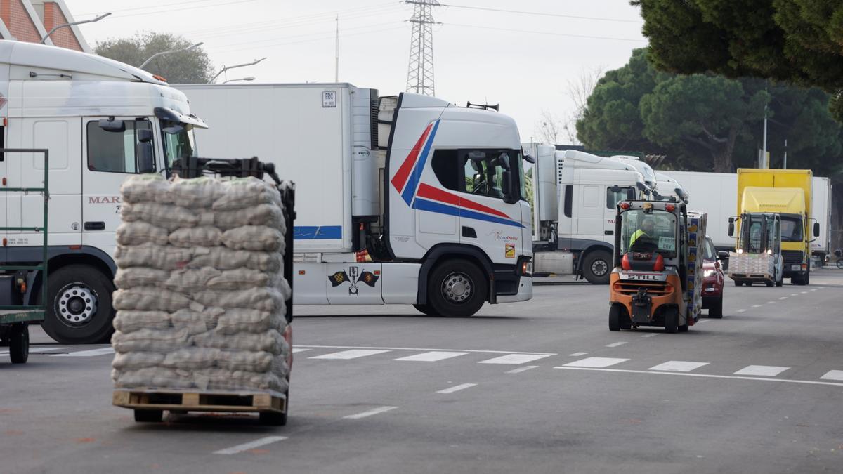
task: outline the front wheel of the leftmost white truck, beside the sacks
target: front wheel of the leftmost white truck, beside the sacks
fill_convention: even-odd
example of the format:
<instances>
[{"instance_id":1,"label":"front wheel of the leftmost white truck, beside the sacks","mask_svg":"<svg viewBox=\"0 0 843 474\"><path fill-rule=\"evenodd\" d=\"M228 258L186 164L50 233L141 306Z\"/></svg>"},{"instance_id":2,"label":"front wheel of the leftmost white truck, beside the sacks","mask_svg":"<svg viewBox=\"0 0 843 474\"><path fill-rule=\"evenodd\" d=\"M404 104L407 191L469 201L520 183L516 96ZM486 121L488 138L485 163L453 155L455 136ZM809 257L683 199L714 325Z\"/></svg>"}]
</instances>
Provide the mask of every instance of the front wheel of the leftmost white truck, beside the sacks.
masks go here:
<instances>
[{"instance_id":1,"label":"front wheel of the leftmost white truck, beside the sacks","mask_svg":"<svg viewBox=\"0 0 843 474\"><path fill-rule=\"evenodd\" d=\"M94 267L68 265L47 278L47 310L41 326L62 344L108 342L114 331L114 283ZM37 298L40 301L40 292Z\"/></svg>"}]
</instances>

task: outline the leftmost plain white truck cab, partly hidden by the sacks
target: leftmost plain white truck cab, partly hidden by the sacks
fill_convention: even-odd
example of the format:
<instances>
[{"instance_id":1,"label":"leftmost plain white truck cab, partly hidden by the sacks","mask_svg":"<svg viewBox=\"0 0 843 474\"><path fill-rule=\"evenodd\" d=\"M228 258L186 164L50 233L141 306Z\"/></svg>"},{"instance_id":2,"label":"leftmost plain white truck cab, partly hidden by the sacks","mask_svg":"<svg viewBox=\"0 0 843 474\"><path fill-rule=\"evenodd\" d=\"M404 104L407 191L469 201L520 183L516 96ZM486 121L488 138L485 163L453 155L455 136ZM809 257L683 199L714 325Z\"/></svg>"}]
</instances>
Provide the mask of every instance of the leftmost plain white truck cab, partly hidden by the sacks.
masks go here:
<instances>
[{"instance_id":1,"label":"leftmost plain white truck cab, partly hidden by the sacks","mask_svg":"<svg viewBox=\"0 0 843 474\"><path fill-rule=\"evenodd\" d=\"M104 57L56 46L0 41L2 148L50 153L48 288L41 278L25 298L47 292L43 326L62 343L106 342L120 186L127 175L164 170L167 159L191 154L193 127L185 94L164 78ZM166 159L165 159L166 157ZM40 187L39 154L0 157L3 186ZM0 193L5 265L41 261L41 237L8 227L38 227L42 198Z\"/></svg>"}]
</instances>

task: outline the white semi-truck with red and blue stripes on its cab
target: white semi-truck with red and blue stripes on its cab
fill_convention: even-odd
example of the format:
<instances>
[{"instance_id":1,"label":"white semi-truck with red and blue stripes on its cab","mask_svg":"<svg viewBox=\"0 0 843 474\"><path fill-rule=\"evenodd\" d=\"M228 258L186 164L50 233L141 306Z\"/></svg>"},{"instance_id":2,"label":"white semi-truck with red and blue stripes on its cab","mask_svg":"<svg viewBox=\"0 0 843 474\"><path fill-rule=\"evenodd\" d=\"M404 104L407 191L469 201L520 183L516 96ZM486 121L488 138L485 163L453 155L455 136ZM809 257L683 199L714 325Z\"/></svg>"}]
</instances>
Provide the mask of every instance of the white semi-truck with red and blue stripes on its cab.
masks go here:
<instances>
[{"instance_id":1,"label":"white semi-truck with red and blue stripes on its cab","mask_svg":"<svg viewBox=\"0 0 843 474\"><path fill-rule=\"evenodd\" d=\"M203 157L255 155L296 183L296 304L468 316L533 294L513 119L348 83L180 85Z\"/></svg>"}]
</instances>

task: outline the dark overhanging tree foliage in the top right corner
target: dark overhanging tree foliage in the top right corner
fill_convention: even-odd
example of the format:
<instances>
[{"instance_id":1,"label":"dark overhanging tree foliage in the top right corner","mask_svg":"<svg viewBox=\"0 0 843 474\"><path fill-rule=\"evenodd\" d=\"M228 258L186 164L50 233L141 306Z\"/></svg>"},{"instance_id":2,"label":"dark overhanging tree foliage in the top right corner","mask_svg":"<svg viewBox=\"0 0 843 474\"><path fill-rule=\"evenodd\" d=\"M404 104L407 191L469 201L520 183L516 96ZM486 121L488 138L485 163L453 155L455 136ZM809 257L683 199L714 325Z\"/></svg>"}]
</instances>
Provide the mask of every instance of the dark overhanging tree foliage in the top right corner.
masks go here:
<instances>
[{"instance_id":1,"label":"dark overhanging tree foliage in the top right corner","mask_svg":"<svg viewBox=\"0 0 843 474\"><path fill-rule=\"evenodd\" d=\"M673 73L714 72L816 86L843 121L840 0L633 0L651 60Z\"/></svg>"}]
</instances>

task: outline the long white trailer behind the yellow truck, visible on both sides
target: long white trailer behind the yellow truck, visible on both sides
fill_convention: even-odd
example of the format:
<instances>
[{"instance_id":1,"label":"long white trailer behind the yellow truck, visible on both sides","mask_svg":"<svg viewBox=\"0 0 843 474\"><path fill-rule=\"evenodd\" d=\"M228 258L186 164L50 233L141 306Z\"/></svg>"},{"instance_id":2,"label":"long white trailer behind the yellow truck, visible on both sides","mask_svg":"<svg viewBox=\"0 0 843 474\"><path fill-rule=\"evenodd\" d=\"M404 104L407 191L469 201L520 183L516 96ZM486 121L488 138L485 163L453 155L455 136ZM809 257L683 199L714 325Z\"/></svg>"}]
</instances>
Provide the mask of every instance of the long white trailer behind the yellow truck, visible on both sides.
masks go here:
<instances>
[{"instance_id":1,"label":"long white trailer behind the yellow truck, visible on both sides","mask_svg":"<svg viewBox=\"0 0 843 474\"><path fill-rule=\"evenodd\" d=\"M690 206L708 213L708 234L717 250L734 250L735 239L729 237L728 219L736 217L738 210L738 175L735 173L706 173L698 171L661 171L685 187L690 196ZM825 260L831 242L831 180L813 177L811 195L812 217L824 229L811 242L812 253Z\"/></svg>"}]
</instances>

